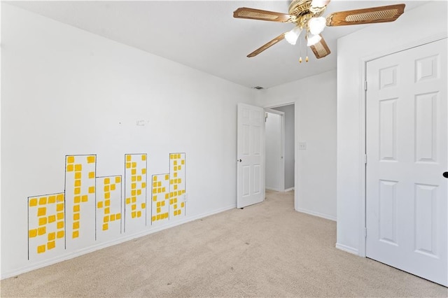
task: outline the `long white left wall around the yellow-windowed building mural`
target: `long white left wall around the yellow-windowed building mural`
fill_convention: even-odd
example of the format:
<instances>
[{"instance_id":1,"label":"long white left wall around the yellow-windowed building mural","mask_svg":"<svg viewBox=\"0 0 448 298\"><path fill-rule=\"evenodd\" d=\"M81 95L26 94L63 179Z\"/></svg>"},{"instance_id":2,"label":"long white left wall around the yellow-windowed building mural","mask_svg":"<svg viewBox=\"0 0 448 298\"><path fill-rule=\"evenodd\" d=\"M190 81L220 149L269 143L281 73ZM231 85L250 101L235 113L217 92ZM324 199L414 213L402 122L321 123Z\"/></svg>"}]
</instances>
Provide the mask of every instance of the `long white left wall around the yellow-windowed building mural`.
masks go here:
<instances>
[{"instance_id":1,"label":"long white left wall around the yellow-windowed building mural","mask_svg":"<svg viewBox=\"0 0 448 298\"><path fill-rule=\"evenodd\" d=\"M64 192L65 155L96 154L108 176L147 153L151 178L186 152L180 222L236 206L237 103L254 104L254 90L1 5L2 278L156 230L27 260L27 198Z\"/></svg>"}]
</instances>

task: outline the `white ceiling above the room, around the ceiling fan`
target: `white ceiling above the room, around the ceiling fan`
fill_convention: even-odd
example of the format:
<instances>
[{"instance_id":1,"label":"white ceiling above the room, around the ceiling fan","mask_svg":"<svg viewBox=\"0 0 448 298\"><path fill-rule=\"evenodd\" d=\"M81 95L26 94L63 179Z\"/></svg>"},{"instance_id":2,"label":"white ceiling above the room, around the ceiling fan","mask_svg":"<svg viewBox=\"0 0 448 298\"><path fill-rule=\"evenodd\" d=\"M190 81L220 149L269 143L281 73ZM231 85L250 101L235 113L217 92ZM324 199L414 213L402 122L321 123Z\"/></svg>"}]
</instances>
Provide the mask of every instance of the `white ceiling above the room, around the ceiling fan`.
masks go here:
<instances>
[{"instance_id":1,"label":"white ceiling above the room, around the ceiling fan","mask_svg":"<svg viewBox=\"0 0 448 298\"><path fill-rule=\"evenodd\" d=\"M406 3L406 10L427 1L331 1L335 11ZM59 22L125 43L246 87L273 87L336 68L337 38L365 26L328 27L323 31L332 53L298 63L300 47L286 41L247 58L261 45L293 28L293 24L241 20L238 7L288 13L290 1L13 1L6 2ZM400 18L395 22L400 22ZM390 25L390 24L389 24ZM388 27L389 28L389 27ZM399 32L397 32L399 34ZM363 42L363 41L359 41Z\"/></svg>"}]
</instances>

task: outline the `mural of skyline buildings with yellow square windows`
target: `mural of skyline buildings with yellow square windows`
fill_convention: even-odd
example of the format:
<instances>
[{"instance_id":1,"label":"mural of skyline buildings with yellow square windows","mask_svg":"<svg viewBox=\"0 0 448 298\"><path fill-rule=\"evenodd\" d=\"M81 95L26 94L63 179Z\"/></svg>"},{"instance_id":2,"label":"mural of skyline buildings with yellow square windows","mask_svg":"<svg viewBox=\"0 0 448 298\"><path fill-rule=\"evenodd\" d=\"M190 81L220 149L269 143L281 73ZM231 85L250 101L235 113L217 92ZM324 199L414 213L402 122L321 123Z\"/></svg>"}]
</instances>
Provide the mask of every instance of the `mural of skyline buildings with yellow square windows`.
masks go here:
<instances>
[{"instance_id":1,"label":"mural of skyline buildings with yellow square windows","mask_svg":"<svg viewBox=\"0 0 448 298\"><path fill-rule=\"evenodd\" d=\"M28 260L185 216L186 153L169 154L169 173L154 174L149 183L147 159L126 154L124 176L97 176L97 155L66 155L64 192L27 198Z\"/></svg>"}]
</instances>

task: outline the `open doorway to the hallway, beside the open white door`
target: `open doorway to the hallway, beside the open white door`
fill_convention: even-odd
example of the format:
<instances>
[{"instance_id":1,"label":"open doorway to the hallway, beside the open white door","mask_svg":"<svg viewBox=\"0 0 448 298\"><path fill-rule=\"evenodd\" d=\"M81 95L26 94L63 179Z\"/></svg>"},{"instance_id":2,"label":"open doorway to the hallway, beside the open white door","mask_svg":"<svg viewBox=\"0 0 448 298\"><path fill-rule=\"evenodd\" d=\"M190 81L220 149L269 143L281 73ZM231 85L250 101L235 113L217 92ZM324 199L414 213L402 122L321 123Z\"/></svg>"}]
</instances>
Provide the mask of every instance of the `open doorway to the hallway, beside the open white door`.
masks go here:
<instances>
[{"instance_id":1,"label":"open doorway to the hallway, beside the open white door","mask_svg":"<svg viewBox=\"0 0 448 298\"><path fill-rule=\"evenodd\" d=\"M287 104L265 111L266 189L288 192L295 186L295 106Z\"/></svg>"}]
</instances>

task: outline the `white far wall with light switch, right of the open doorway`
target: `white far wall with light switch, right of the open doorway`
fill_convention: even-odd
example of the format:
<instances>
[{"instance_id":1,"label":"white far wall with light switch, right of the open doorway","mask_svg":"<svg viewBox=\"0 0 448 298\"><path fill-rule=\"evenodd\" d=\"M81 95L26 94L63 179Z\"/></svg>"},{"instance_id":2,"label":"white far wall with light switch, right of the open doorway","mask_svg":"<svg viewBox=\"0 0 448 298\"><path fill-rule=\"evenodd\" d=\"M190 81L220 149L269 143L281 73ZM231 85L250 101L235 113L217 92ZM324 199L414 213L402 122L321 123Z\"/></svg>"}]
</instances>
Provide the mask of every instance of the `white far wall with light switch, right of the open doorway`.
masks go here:
<instances>
[{"instance_id":1,"label":"white far wall with light switch, right of the open doorway","mask_svg":"<svg viewBox=\"0 0 448 298\"><path fill-rule=\"evenodd\" d=\"M295 104L295 208L336 219L336 71L258 94L262 106ZM307 150L298 150L306 142Z\"/></svg>"}]
</instances>

